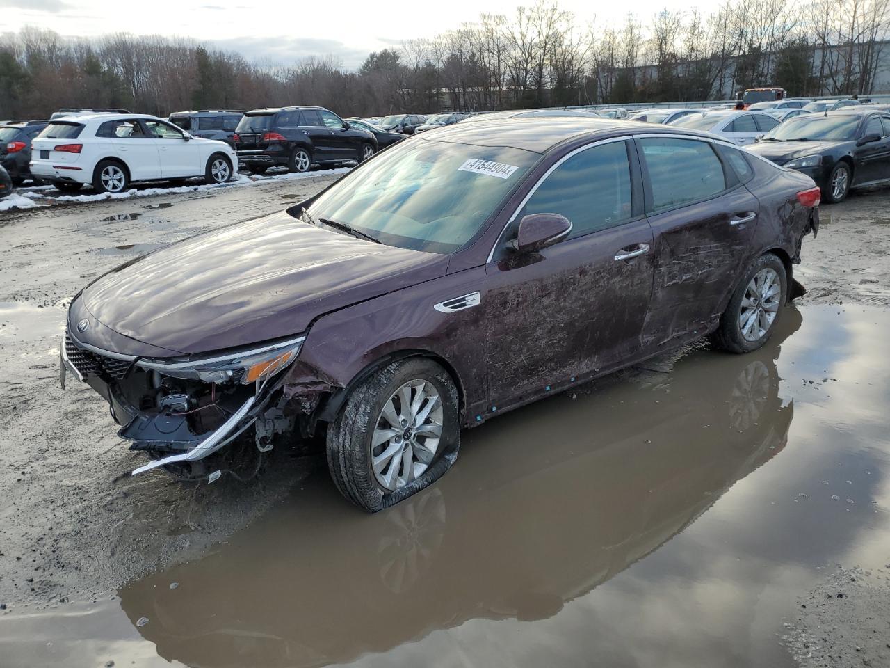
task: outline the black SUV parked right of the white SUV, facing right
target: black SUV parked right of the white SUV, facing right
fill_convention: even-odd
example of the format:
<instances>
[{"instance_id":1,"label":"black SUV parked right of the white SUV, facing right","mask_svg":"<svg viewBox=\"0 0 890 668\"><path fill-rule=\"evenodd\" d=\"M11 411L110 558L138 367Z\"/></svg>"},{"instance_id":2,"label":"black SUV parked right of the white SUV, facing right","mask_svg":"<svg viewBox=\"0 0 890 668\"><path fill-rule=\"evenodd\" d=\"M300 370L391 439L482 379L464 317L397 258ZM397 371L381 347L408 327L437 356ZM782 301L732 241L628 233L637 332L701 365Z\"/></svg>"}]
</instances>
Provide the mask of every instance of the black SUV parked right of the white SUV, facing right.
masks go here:
<instances>
[{"instance_id":1,"label":"black SUV parked right of the white SUV, facing right","mask_svg":"<svg viewBox=\"0 0 890 668\"><path fill-rule=\"evenodd\" d=\"M352 128L322 107L282 107L248 111L234 136L239 163L254 174L286 166L308 172L312 165L370 158L377 150L373 134Z\"/></svg>"}]
</instances>

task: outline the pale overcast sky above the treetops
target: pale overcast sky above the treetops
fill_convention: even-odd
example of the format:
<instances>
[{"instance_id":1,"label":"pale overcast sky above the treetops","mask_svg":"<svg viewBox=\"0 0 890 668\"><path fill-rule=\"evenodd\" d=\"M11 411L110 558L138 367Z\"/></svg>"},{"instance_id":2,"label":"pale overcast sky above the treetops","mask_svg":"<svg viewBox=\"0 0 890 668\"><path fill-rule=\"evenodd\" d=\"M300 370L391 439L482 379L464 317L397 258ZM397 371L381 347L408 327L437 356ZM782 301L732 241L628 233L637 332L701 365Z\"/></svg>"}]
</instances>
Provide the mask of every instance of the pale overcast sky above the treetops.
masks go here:
<instances>
[{"instance_id":1,"label":"pale overcast sky above the treetops","mask_svg":"<svg viewBox=\"0 0 890 668\"><path fill-rule=\"evenodd\" d=\"M0 8L15 10L0 12L0 33L33 25L53 29L65 36L93 37L109 32L131 32L190 37L239 51L250 61L287 65L307 55L333 54L346 67L355 68L371 51L398 45L403 39L433 37L478 19L480 12L510 15L523 4L517 0L207 2L189 4L182 0L153 0L148 4L127 4L108 0L0 0ZM708 5L713 4L716 0L702 0L699 6L707 11ZM590 0L560 1L562 8L575 13L579 27L586 26L593 18L592 5ZM630 8L646 21L665 6L686 9L691 4L681 0L603 3L596 8L597 21L621 21ZM412 9L403 10L402 7Z\"/></svg>"}]
</instances>

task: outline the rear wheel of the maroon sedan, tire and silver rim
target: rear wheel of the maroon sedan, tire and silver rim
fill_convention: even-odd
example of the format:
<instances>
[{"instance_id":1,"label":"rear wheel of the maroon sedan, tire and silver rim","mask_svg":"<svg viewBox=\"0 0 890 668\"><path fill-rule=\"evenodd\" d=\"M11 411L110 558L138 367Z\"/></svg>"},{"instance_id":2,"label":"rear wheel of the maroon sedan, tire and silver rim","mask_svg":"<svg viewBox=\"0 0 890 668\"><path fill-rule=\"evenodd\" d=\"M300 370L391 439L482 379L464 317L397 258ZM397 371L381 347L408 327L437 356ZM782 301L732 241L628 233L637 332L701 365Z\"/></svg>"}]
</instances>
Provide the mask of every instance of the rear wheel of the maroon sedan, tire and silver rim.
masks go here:
<instances>
[{"instance_id":1,"label":"rear wheel of the maroon sedan, tire and silver rim","mask_svg":"<svg viewBox=\"0 0 890 668\"><path fill-rule=\"evenodd\" d=\"M732 293L714 334L717 347L750 353L773 335L788 299L785 265L772 253L758 257Z\"/></svg>"}]
</instances>

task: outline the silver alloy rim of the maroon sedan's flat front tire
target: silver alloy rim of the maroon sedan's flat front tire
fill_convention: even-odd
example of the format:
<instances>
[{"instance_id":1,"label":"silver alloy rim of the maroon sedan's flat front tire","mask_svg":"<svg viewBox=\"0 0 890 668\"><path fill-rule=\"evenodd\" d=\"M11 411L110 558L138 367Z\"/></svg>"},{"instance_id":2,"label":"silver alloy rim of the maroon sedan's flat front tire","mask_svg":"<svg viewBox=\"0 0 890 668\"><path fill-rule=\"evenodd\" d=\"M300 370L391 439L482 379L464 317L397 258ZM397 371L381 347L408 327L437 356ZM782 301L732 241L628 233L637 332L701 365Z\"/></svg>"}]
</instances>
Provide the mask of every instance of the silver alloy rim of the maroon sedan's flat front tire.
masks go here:
<instances>
[{"instance_id":1,"label":"silver alloy rim of the maroon sedan's flat front tire","mask_svg":"<svg viewBox=\"0 0 890 668\"><path fill-rule=\"evenodd\" d=\"M426 380L409 380L384 403L371 436L371 465L377 483L388 490L424 474L439 449L442 402Z\"/></svg>"}]
</instances>

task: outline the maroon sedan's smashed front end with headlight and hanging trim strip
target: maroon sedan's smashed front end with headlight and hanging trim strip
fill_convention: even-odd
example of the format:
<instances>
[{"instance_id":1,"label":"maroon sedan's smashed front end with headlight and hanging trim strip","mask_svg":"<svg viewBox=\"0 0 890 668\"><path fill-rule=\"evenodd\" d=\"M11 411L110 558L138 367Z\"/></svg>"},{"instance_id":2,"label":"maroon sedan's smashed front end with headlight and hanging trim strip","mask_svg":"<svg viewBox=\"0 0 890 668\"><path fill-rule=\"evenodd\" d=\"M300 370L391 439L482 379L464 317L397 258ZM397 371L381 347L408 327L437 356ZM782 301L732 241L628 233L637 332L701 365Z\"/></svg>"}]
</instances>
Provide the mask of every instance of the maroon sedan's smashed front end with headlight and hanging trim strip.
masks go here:
<instances>
[{"instance_id":1,"label":"maroon sedan's smashed front end with headlight and hanging trim strip","mask_svg":"<svg viewBox=\"0 0 890 668\"><path fill-rule=\"evenodd\" d=\"M102 350L69 331L61 343L61 386L69 374L109 403L132 450L146 451L153 468L190 465L230 444L255 426L259 452L271 438L293 429L279 407L280 377L295 360L304 337L228 354L157 360ZM278 400L278 401L276 401ZM220 474L214 472L210 479Z\"/></svg>"}]
</instances>

